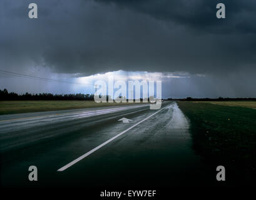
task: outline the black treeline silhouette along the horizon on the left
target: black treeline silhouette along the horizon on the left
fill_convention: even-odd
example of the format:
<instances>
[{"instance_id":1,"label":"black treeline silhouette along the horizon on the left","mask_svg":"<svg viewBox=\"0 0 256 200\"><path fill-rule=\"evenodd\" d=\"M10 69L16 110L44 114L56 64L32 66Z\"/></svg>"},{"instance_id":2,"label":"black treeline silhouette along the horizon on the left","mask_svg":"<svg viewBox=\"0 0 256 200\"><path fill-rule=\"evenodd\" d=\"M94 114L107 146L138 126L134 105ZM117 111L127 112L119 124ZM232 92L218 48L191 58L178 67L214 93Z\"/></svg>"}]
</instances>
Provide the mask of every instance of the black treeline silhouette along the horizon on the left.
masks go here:
<instances>
[{"instance_id":1,"label":"black treeline silhouette along the horizon on the left","mask_svg":"<svg viewBox=\"0 0 256 200\"><path fill-rule=\"evenodd\" d=\"M50 94L50 93L39 93L39 94L17 94L17 93L8 93L7 89L3 91L0 89L0 101L17 101L17 100L85 100L93 101L93 94Z\"/></svg>"}]
</instances>

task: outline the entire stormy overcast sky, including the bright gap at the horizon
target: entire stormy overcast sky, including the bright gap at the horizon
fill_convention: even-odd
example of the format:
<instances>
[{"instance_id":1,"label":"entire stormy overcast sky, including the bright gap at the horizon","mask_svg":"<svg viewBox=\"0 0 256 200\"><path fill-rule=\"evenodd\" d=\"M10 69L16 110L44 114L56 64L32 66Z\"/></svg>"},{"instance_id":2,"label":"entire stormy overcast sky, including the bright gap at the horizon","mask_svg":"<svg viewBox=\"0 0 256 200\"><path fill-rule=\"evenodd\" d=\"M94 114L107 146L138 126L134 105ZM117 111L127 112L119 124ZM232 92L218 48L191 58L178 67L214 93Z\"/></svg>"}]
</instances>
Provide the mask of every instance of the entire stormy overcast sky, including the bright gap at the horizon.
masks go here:
<instances>
[{"instance_id":1,"label":"entire stormy overcast sky, including the bright gap at the horizon","mask_svg":"<svg viewBox=\"0 0 256 200\"><path fill-rule=\"evenodd\" d=\"M0 89L17 93L92 93L85 83L112 73L161 79L164 97L255 98L256 2L1 0L0 69L78 83L2 72Z\"/></svg>"}]
</instances>

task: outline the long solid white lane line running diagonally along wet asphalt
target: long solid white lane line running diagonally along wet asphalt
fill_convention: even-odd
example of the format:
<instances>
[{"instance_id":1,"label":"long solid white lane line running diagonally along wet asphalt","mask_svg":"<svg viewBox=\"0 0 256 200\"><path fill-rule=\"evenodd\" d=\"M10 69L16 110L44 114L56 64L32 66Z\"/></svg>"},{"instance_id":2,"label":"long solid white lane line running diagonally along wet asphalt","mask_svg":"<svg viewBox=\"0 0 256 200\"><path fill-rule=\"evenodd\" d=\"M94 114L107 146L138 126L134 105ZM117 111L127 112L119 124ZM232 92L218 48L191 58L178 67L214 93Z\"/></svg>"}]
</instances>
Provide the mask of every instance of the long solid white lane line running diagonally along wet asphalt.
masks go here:
<instances>
[{"instance_id":1,"label":"long solid white lane line running diagonally along wet asphalt","mask_svg":"<svg viewBox=\"0 0 256 200\"><path fill-rule=\"evenodd\" d=\"M164 109L164 108L162 108ZM162 109L160 109L159 111L156 111L156 113L159 113ZM83 154L83 156L80 156L79 158L75 159L74 161L72 161L71 163L66 164L64 167L58 169L57 171L64 171L65 169L68 169L69 167L73 166L73 164L78 163L79 161L81 161L81 159L86 158L87 156L89 156L90 154L94 153L95 151L97 151L98 149L102 148L103 146L105 146L106 144L110 143L111 141L113 141L114 139L118 138L119 136L121 136L122 134L125 134L127 131L129 131L132 128L135 128L135 126L137 126L140 123L143 123L143 121L146 121L146 119L151 118L151 116L154 116L156 113L151 114L150 116L148 116L147 118L141 120L140 122L134 124L133 126L131 126L130 128L126 129L125 131L121 132L120 134L117 134L116 136L114 136L113 138L109 139L108 141L106 141L105 143L100 144L99 146L97 146L94 149L91 149L91 151L88 151L88 153Z\"/></svg>"}]
</instances>

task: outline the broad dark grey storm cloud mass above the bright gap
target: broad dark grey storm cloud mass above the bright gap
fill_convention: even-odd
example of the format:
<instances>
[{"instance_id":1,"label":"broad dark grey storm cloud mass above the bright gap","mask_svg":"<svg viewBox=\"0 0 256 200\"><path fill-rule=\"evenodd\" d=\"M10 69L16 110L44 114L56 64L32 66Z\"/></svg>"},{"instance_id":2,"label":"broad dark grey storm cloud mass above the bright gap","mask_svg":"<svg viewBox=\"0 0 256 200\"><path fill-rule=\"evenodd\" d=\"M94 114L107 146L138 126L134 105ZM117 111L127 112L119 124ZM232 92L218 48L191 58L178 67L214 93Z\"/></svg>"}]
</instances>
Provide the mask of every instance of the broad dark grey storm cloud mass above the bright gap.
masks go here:
<instances>
[{"instance_id":1,"label":"broad dark grey storm cloud mass above the bright gap","mask_svg":"<svg viewBox=\"0 0 256 200\"><path fill-rule=\"evenodd\" d=\"M1 68L57 73L255 73L255 1L1 1Z\"/></svg>"}]
</instances>

